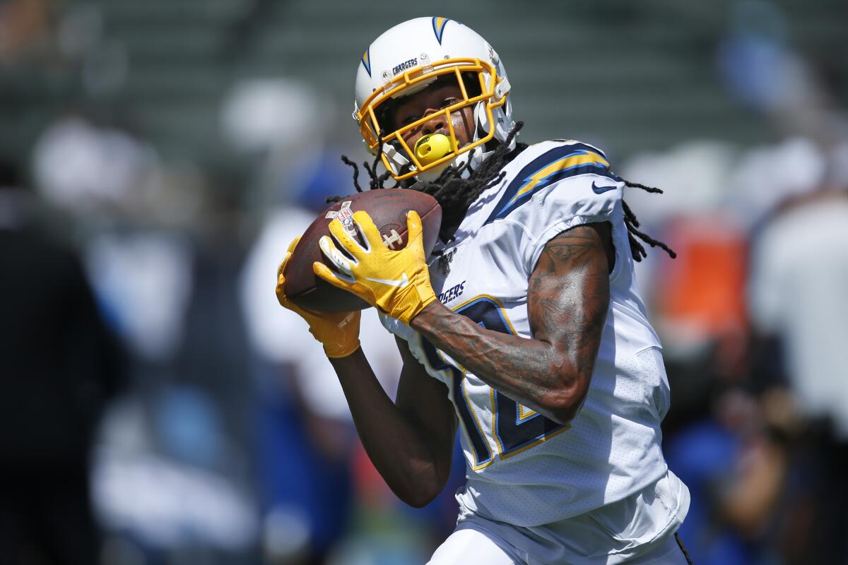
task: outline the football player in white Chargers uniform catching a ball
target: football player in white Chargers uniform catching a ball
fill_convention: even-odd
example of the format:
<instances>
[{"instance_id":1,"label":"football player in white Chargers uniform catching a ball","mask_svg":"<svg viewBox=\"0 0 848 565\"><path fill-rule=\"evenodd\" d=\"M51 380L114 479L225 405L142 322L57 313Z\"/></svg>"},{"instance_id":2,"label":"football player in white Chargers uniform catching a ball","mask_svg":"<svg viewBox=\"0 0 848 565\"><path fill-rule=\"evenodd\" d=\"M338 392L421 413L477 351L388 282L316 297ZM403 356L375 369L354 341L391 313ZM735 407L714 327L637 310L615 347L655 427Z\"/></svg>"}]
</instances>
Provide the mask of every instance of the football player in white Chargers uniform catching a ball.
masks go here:
<instances>
[{"instance_id":1,"label":"football player in white Chargers uniform catching a ball","mask_svg":"<svg viewBox=\"0 0 848 565\"><path fill-rule=\"evenodd\" d=\"M371 461L403 501L443 489L460 430L467 483L430 563L686 563L689 491L667 468L661 345L633 275L650 240L598 148L516 141L510 82L483 37L411 19L365 50L356 120L388 177L443 208L430 257L338 222L315 274L377 307L404 368L394 402L359 346L359 313L293 306L324 344ZM358 172L358 171L357 171ZM354 177L355 178L355 177ZM293 241L291 252L297 245Z\"/></svg>"}]
</instances>

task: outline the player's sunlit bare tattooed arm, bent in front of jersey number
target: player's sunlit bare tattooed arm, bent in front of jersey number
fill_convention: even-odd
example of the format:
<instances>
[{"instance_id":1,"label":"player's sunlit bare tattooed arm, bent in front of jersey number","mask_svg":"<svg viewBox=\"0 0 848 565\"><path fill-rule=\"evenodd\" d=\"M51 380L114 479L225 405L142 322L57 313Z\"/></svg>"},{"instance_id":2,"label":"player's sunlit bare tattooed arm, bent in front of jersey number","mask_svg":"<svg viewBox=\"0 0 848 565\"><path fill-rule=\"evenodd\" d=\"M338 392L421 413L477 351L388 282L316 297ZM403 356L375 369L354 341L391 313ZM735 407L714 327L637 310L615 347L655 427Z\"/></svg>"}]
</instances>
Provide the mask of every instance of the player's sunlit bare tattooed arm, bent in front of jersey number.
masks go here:
<instances>
[{"instance_id":1,"label":"player's sunlit bare tattooed arm, bent in front of jersey number","mask_svg":"<svg viewBox=\"0 0 848 565\"><path fill-rule=\"evenodd\" d=\"M566 424L589 391L604 330L610 235L610 224L587 224L544 246L527 288L531 340L486 330L438 301L410 325L489 386Z\"/></svg>"}]
</instances>

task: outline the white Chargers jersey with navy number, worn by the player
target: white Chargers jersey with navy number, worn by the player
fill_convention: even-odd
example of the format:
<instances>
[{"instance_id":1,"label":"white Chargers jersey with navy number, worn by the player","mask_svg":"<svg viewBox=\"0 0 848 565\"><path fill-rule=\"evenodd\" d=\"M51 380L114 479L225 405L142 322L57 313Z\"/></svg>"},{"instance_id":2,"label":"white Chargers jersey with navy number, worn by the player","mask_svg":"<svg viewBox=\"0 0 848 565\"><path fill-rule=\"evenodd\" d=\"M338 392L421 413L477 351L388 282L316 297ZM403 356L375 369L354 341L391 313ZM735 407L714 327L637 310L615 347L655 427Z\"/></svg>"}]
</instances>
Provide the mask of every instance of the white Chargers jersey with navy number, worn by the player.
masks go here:
<instances>
[{"instance_id":1,"label":"white Chargers jersey with navy number, worn by the player","mask_svg":"<svg viewBox=\"0 0 848 565\"><path fill-rule=\"evenodd\" d=\"M616 250L611 300L577 417L556 424L464 372L408 325L381 319L448 388L467 462L468 481L457 495L462 511L533 527L621 501L666 477L660 422L669 392L660 341L633 276L624 183L603 153L577 141L545 141L503 170L505 178L471 204L443 258L432 258L433 289L483 327L531 339L527 281L545 243L576 225L609 222ZM688 498L663 504L669 514L684 514Z\"/></svg>"}]
</instances>

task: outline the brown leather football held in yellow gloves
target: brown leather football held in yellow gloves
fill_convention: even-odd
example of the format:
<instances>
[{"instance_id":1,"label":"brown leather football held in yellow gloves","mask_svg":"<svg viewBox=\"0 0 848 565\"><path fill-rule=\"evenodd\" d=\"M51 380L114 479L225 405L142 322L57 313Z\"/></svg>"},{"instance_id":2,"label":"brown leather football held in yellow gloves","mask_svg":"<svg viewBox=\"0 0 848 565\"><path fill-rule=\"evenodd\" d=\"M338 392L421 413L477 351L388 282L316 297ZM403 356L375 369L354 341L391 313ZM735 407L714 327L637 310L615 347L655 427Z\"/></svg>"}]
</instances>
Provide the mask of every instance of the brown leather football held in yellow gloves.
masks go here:
<instances>
[{"instance_id":1,"label":"brown leather football held in yellow gloves","mask_svg":"<svg viewBox=\"0 0 848 565\"><path fill-rule=\"evenodd\" d=\"M436 244L442 224L442 208L436 199L423 192L401 188L364 191L326 208L304 232L294 248L283 273L286 277L286 296L297 306L318 312L349 312L369 307L368 303L318 278L312 272L312 263L321 261L330 269L332 263L324 260L318 247L322 235L330 235L329 224L338 218L342 223L358 210L367 212L383 243L389 249L406 245L406 213L415 210L421 216L424 230L424 252L429 255Z\"/></svg>"}]
</instances>

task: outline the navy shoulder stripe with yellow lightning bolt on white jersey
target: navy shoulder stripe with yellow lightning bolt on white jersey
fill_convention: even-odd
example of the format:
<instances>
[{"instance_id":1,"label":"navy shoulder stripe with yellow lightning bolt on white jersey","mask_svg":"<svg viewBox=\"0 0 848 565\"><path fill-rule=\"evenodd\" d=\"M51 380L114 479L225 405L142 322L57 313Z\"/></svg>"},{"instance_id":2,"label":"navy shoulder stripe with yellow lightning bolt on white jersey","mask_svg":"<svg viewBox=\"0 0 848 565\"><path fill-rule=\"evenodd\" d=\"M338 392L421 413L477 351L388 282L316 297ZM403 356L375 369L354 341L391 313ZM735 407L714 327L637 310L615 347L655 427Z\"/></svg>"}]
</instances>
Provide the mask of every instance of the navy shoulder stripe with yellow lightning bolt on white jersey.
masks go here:
<instances>
[{"instance_id":1,"label":"navy shoulder stripe with yellow lightning bolt on white jersey","mask_svg":"<svg viewBox=\"0 0 848 565\"><path fill-rule=\"evenodd\" d=\"M610 170L610 163L606 161L604 153L592 146L570 143L544 152L516 174L483 225L505 218L530 200L533 194L557 180L589 173L600 174L616 182L620 180Z\"/></svg>"}]
</instances>

